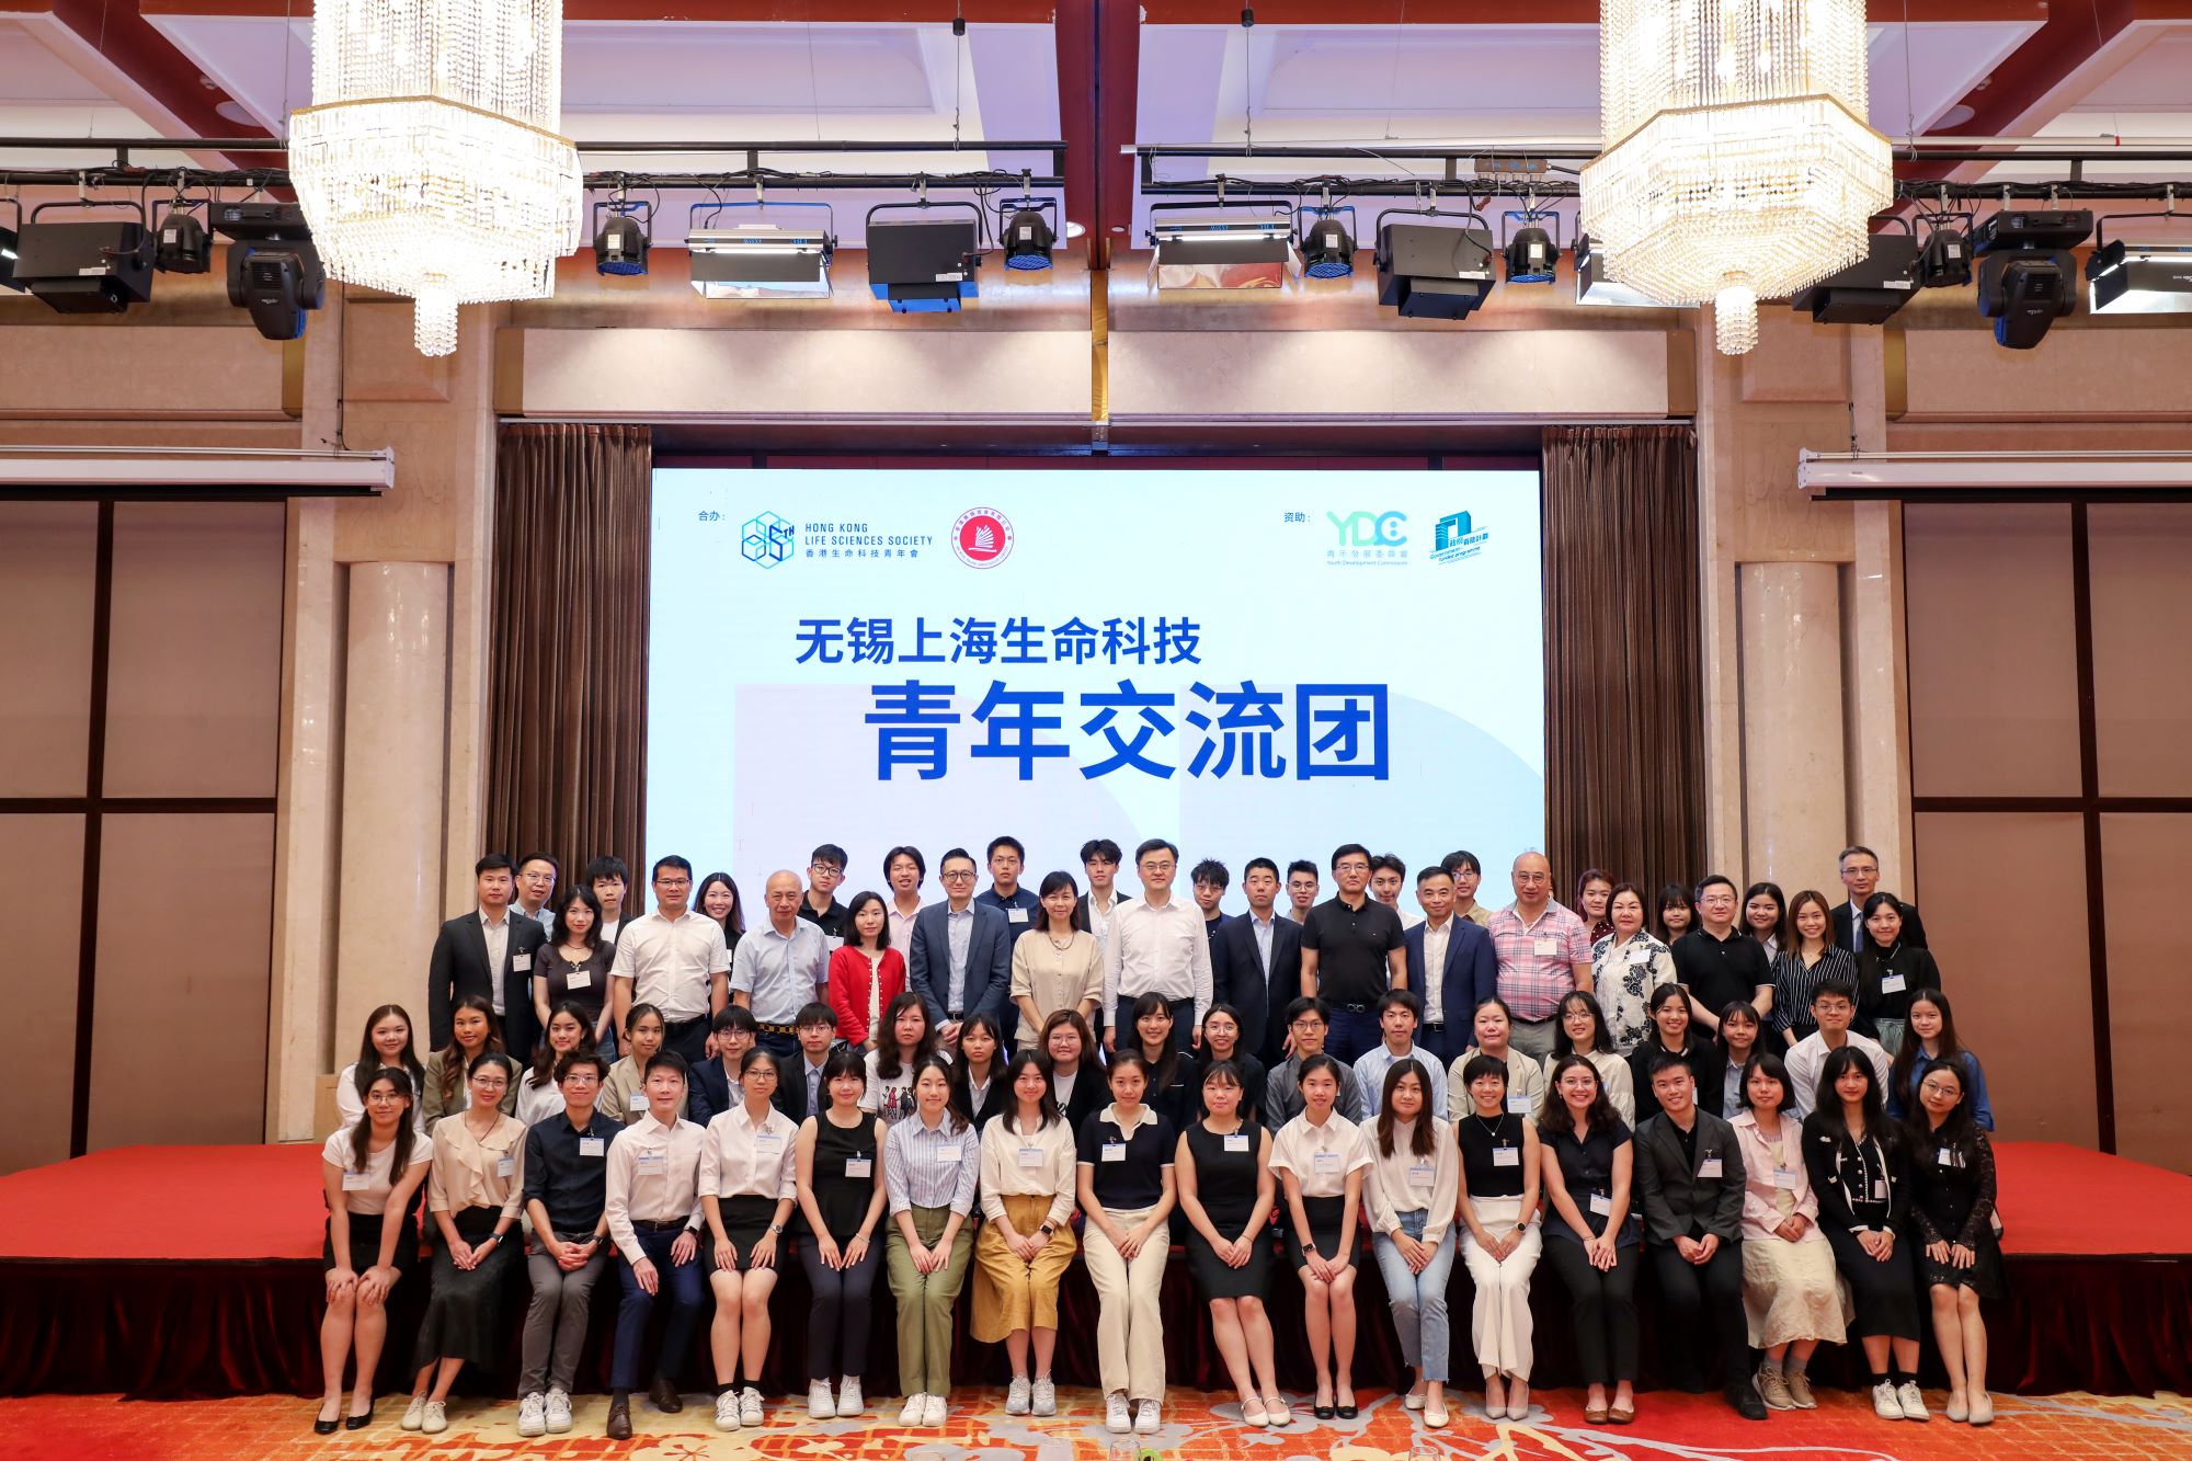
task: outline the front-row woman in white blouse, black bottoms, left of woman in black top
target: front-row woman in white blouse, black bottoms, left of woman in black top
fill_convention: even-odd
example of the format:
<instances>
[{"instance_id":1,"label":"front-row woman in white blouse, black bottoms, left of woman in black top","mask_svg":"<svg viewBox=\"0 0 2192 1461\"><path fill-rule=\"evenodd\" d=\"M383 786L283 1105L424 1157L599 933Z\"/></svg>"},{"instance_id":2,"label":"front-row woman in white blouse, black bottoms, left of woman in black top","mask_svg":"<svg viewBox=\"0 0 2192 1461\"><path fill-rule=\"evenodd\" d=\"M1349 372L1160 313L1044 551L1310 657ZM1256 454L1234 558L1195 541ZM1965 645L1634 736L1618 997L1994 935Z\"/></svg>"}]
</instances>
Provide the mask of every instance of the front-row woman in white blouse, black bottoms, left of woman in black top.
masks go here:
<instances>
[{"instance_id":1,"label":"front-row woman in white blouse, black bottoms, left of woman in black top","mask_svg":"<svg viewBox=\"0 0 2192 1461\"><path fill-rule=\"evenodd\" d=\"M761 1424L761 1362L769 1354L776 1255L798 1200L798 1128L776 1110L776 1055L754 1046L739 1062L745 1099L708 1121L699 1149L699 1204L708 1220L701 1272L715 1290L717 1430ZM739 1371L745 1369L745 1389Z\"/></svg>"}]
</instances>

